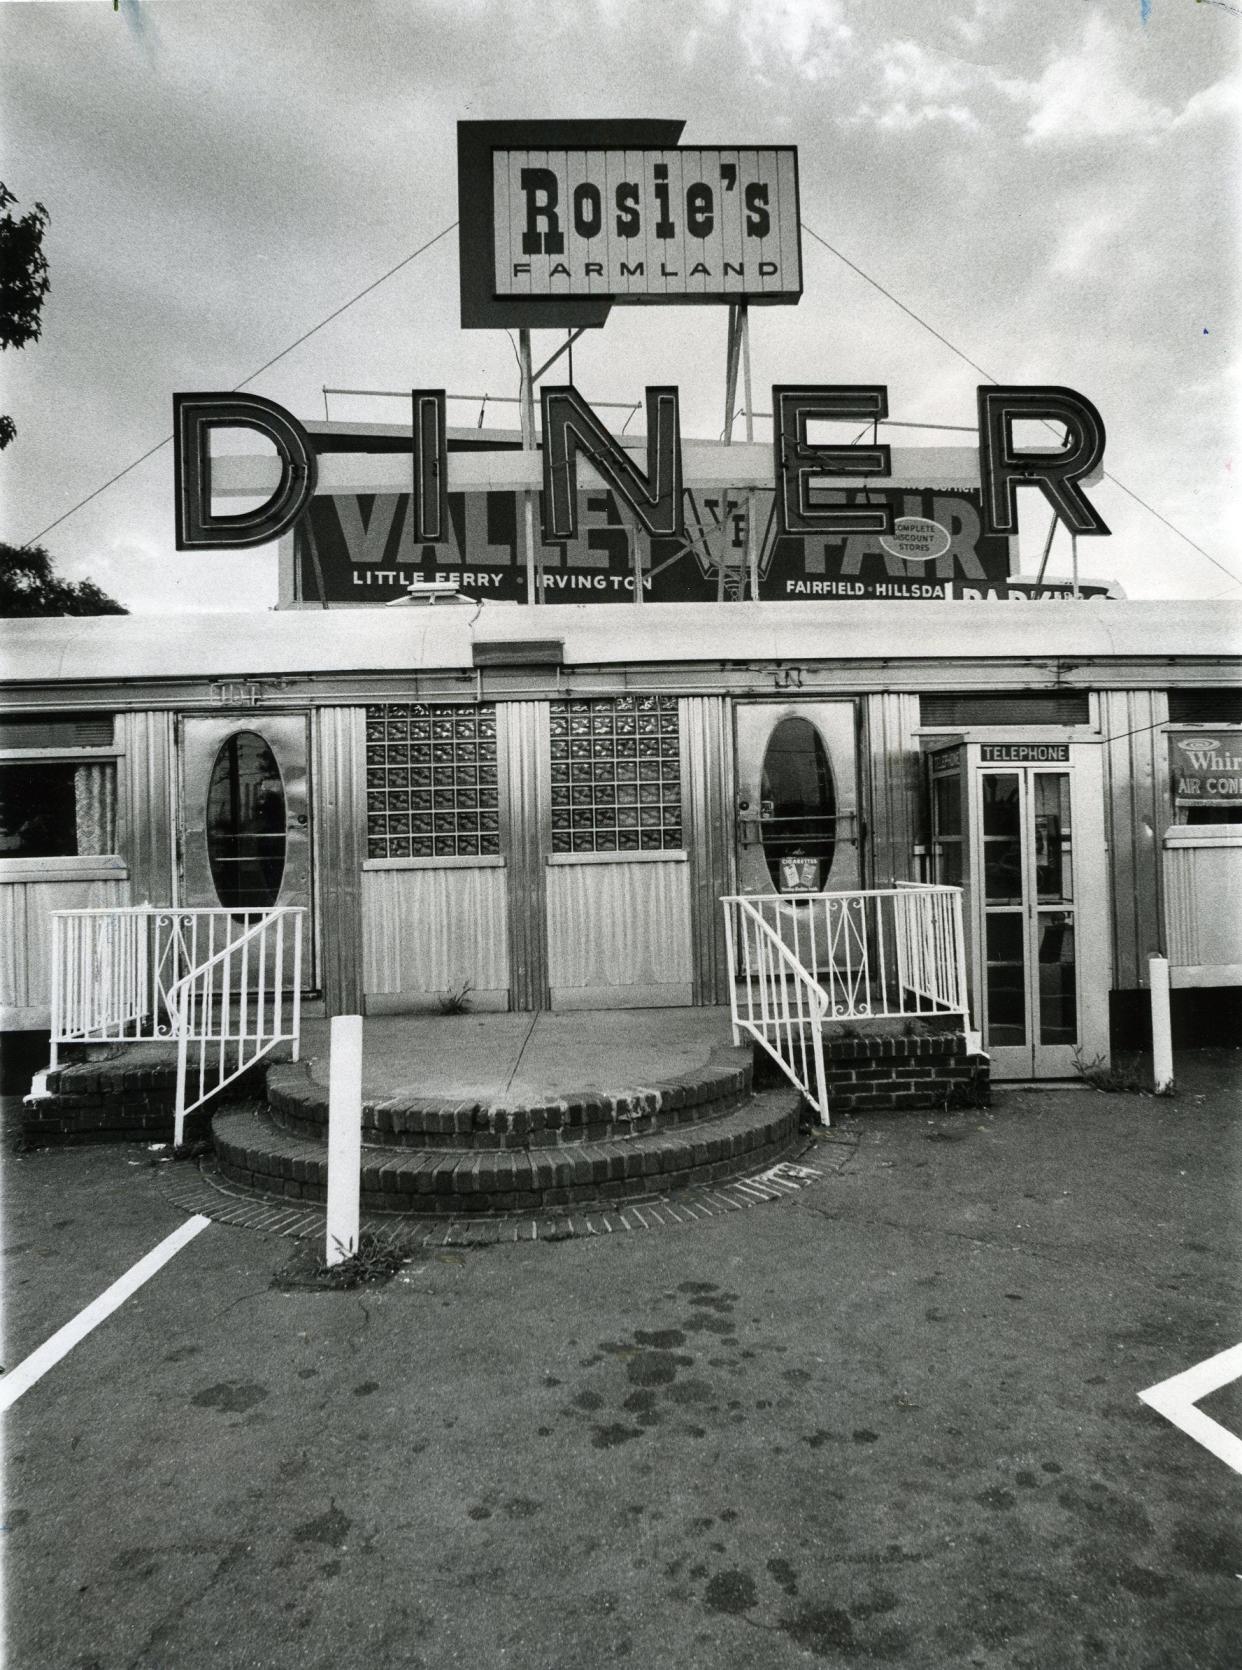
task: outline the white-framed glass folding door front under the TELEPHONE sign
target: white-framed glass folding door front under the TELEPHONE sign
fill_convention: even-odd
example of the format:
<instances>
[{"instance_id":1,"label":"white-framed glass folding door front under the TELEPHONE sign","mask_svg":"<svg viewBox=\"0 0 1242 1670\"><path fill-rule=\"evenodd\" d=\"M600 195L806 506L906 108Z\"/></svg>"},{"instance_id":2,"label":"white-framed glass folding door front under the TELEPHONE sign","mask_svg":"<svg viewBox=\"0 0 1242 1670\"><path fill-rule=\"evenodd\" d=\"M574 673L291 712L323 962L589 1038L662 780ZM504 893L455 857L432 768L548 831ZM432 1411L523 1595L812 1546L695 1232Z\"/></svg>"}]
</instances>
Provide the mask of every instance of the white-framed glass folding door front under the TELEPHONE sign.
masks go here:
<instances>
[{"instance_id":1,"label":"white-framed glass folding door front under the TELEPHONE sign","mask_svg":"<svg viewBox=\"0 0 1242 1670\"><path fill-rule=\"evenodd\" d=\"M972 773L983 1049L997 1079L1073 1077L1078 1060L1108 1057L1098 748L1065 748L1053 767L987 763L1003 752L980 748Z\"/></svg>"}]
</instances>

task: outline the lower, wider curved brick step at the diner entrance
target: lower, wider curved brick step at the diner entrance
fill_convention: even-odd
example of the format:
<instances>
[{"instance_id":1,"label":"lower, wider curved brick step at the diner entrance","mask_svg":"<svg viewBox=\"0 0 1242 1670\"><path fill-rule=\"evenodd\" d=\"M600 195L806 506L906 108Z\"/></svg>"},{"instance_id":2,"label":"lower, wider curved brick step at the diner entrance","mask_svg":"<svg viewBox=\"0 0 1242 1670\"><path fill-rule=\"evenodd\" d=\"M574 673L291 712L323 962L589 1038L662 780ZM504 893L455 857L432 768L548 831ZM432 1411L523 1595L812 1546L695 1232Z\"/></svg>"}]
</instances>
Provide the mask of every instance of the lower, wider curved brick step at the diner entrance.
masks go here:
<instances>
[{"instance_id":1,"label":"lower, wider curved brick step at the diner entrance","mask_svg":"<svg viewBox=\"0 0 1242 1670\"><path fill-rule=\"evenodd\" d=\"M484 1214L641 1201L775 1164L800 1142L800 1097L768 1091L693 1126L534 1149L362 1149L362 1207ZM259 1106L212 1121L222 1177L250 1194L327 1199L327 1147L280 1129Z\"/></svg>"}]
</instances>

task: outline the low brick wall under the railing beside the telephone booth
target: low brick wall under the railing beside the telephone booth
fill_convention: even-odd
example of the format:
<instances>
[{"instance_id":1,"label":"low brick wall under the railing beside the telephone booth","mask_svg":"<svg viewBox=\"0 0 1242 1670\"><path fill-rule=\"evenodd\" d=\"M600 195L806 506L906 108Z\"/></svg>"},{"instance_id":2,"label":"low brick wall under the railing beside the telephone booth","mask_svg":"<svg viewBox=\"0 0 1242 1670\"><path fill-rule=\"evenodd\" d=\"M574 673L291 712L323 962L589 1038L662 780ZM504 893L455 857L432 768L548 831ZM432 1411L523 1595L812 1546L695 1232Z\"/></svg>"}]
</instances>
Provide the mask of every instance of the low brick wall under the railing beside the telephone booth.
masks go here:
<instances>
[{"instance_id":1,"label":"low brick wall under the railing beside the telephone booth","mask_svg":"<svg viewBox=\"0 0 1242 1670\"><path fill-rule=\"evenodd\" d=\"M968 1055L962 1032L932 1037L825 1039L828 1106L841 1114L987 1107L987 1055Z\"/></svg>"}]
</instances>

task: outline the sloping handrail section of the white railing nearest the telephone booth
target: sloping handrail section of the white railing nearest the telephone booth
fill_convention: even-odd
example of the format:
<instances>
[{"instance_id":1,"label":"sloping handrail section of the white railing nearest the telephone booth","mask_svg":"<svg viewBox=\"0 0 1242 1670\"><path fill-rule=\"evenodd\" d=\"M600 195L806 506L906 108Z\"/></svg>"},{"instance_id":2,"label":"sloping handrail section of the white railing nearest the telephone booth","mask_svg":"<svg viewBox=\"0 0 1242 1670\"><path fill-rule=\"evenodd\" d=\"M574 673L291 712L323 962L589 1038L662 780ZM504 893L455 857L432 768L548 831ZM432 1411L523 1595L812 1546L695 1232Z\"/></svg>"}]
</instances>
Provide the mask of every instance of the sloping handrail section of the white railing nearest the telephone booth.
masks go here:
<instances>
[{"instance_id":1,"label":"sloping handrail section of the white railing nearest the telephone booth","mask_svg":"<svg viewBox=\"0 0 1242 1670\"><path fill-rule=\"evenodd\" d=\"M738 967L736 950L741 967L755 974L755 982L748 980L745 985L745 1002L738 1002L736 982L733 985L733 1042L741 1044L741 1034L746 1032L761 1044L826 1126L823 1022L828 997L781 935L755 908L761 900L723 898L721 903L730 969Z\"/></svg>"}]
</instances>

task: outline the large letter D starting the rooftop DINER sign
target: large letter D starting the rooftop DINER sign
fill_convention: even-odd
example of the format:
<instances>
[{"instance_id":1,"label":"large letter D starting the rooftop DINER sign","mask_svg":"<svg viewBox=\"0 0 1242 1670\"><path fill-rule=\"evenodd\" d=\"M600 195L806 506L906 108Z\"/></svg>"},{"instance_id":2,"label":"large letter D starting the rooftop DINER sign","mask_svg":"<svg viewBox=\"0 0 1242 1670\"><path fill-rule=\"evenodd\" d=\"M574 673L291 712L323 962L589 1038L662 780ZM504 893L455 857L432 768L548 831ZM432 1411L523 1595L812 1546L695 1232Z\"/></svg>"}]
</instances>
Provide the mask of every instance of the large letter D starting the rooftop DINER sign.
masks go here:
<instances>
[{"instance_id":1,"label":"large letter D starting the rooftop DINER sign","mask_svg":"<svg viewBox=\"0 0 1242 1670\"><path fill-rule=\"evenodd\" d=\"M300 423L262 394L174 394L179 551L232 551L279 539L316 491L316 454ZM212 514L212 429L255 429L280 459L280 483L259 509Z\"/></svg>"}]
</instances>

